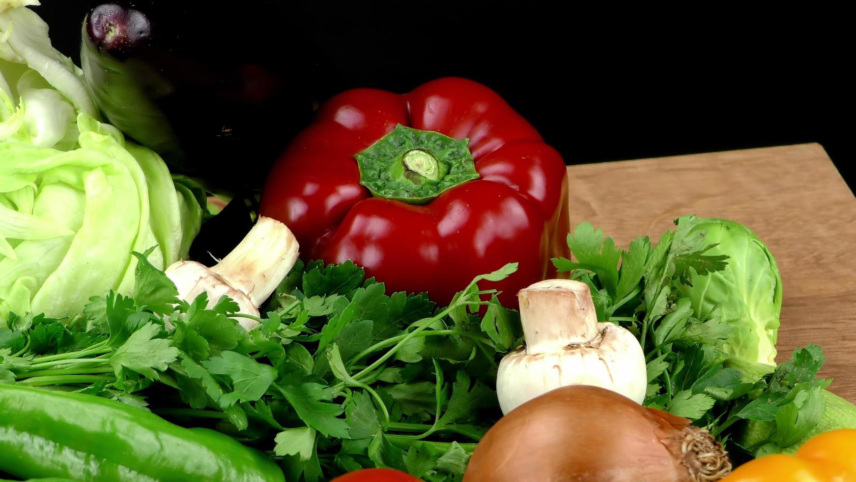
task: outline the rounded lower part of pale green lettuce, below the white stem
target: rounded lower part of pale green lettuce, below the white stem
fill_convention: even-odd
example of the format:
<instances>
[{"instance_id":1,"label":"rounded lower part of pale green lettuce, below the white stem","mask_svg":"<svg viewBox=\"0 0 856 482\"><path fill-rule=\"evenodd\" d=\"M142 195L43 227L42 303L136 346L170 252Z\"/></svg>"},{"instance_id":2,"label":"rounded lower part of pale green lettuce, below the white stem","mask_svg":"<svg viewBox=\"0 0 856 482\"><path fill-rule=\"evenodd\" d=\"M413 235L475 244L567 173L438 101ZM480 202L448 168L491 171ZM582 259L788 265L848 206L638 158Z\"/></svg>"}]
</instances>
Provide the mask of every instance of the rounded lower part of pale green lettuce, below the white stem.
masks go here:
<instances>
[{"instance_id":1,"label":"rounded lower part of pale green lettuce, below the white stem","mask_svg":"<svg viewBox=\"0 0 856 482\"><path fill-rule=\"evenodd\" d=\"M0 320L9 312L79 312L92 295L134 287L136 259L158 268L187 256L201 208L154 152L77 117L70 151L0 143Z\"/></svg>"}]
</instances>

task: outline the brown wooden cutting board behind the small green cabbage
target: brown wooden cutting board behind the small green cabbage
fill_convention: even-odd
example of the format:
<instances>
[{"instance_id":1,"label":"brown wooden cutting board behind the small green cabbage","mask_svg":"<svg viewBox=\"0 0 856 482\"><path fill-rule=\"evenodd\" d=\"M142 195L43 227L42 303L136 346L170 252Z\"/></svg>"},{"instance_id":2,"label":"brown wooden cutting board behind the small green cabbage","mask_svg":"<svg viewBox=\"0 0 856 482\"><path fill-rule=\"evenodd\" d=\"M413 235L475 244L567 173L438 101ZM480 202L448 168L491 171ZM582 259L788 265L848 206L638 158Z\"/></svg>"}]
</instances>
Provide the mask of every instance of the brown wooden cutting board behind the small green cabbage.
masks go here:
<instances>
[{"instance_id":1,"label":"brown wooden cutting board behind the small green cabbage","mask_svg":"<svg viewBox=\"0 0 856 482\"><path fill-rule=\"evenodd\" d=\"M684 214L746 224L782 272L776 360L823 347L829 390L856 402L856 198L818 144L568 167L571 225L627 248Z\"/></svg>"}]
</instances>

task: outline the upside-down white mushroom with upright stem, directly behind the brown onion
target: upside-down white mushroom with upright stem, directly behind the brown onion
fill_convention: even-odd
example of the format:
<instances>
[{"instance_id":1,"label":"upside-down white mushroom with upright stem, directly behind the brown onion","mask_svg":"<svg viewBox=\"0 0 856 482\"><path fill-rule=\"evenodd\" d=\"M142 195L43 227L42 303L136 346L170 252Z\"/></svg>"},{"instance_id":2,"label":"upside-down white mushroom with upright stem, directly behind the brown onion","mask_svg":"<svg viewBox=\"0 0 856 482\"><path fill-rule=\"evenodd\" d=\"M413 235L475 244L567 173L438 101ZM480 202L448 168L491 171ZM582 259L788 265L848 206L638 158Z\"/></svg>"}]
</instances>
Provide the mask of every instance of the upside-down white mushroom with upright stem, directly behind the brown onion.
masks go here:
<instances>
[{"instance_id":1,"label":"upside-down white mushroom with upright stem, directly behind the brown onion","mask_svg":"<svg viewBox=\"0 0 856 482\"><path fill-rule=\"evenodd\" d=\"M597 323L586 283L553 279L521 289L526 344L505 355L496 377L503 414L566 385L594 385L643 402L645 354L632 333Z\"/></svg>"}]
</instances>

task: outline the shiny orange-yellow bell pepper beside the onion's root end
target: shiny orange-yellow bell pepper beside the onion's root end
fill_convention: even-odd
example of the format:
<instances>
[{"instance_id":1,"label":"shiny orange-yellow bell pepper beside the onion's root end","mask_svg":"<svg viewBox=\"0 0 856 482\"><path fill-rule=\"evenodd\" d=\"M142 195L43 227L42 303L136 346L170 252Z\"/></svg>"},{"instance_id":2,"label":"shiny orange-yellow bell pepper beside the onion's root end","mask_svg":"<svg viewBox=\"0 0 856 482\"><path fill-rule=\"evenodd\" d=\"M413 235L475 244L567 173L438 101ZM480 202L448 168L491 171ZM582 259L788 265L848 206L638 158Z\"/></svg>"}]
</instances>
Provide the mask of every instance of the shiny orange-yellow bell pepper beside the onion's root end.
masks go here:
<instances>
[{"instance_id":1,"label":"shiny orange-yellow bell pepper beside the onion's root end","mask_svg":"<svg viewBox=\"0 0 856 482\"><path fill-rule=\"evenodd\" d=\"M856 482L856 430L821 433L795 455L760 457L722 482Z\"/></svg>"}]
</instances>

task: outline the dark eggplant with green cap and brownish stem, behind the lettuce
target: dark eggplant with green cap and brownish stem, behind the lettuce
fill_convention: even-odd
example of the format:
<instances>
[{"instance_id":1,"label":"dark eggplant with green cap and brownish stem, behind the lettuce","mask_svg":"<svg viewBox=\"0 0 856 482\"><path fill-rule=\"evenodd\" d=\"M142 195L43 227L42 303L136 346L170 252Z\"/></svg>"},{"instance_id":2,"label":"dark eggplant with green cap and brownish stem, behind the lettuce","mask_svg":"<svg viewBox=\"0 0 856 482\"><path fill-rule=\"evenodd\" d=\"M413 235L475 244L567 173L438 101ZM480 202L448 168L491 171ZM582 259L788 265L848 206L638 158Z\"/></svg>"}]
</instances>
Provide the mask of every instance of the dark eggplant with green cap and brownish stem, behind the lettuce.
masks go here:
<instances>
[{"instance_id":1,"label":"dark eggplant with green cap and brownish stem, behind the lettuce","mask_svg":"<svg viewBox=\"0 0 856 482\"><path fill-rule=\"evenodd\" d=\"M312 117L314 57L288 3L95 5L80 63L107 121L211 190L262 186Z\"/></svg>"}]
</instances>

